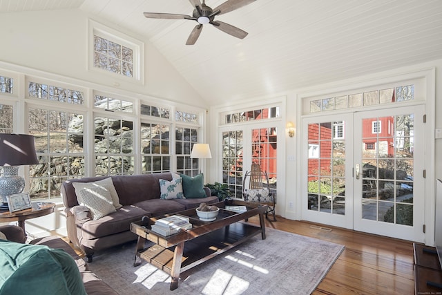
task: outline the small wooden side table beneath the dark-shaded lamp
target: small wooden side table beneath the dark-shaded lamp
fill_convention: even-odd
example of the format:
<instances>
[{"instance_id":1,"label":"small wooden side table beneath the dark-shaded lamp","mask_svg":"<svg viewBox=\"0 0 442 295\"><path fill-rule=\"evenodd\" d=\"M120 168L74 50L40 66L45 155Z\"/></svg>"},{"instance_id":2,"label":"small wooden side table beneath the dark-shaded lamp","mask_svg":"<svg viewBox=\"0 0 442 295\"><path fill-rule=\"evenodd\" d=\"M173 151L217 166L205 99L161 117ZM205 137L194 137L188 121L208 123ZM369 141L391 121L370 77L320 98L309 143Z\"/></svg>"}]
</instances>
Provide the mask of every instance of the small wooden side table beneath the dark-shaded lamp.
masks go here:
<instances>
[{"instance_id":1,"label":"small wooden side table beneath the dark-shaded lamp","mask_svg":"<svg viewBox=\"0 0 442 295\"><path fill-rule=\"evenodd\" d=\"M25 220L45 216L54 211L55 203L52 202L32 202L32 208L10 213L10 211L0 211L0 222L19 222L19 227L25 230Z\"/></svg>"}]
</instances>

